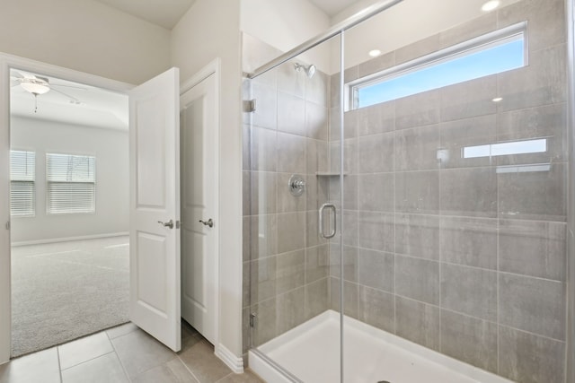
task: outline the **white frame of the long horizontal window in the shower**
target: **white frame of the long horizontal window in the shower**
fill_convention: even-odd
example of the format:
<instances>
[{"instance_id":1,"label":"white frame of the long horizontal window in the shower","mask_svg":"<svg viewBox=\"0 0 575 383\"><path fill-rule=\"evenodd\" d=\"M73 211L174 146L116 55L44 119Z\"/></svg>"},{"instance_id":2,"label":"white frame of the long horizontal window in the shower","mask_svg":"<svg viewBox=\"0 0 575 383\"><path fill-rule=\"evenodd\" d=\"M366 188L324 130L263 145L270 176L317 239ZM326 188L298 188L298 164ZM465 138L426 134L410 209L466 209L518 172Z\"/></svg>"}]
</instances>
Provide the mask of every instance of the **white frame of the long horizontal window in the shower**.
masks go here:
<instances>
[{"instance_id":1,"label":"white frame of the long horizontal window in the shower","mask_svg":"<svg viewBox=\"0 0 575 383\"><path fill-rule=\"evenodd\" d=\"M403 76L405 74L411 74L414 72L418 72L420 70L429 68L434 65L439 65L442 63L446 63L448 61L455 60L460 57L466 57L472 55L477 52L481 52L482 50L490 49L490 48L497 48L501 45L505 45L507 43L517 41L519 39L523 39L524 41L524 49L523 49L523 62L524 65L522 67L527 66L528 63L528 39L527 39L527 22L517 22L516 24L509 25L508 27L501 28L499 30L493 30L489 33L485 33L481 36L475 37L473 39L465 40L461 43L453 45L451 47L440 49L436 52L430 53L429 55L425 55L423 57L418 57L403 64L394 65L391 68L384 69L382 71L376 72L374 74L368 74L367 76L363 76L358 78L357 80L350 81L349 83L345 84L344 87L344 110L354 110L360 109L358 104L358 91L361 88L365 88L368 86L375 85L377 83L385 83L386 81L393 80L394 78ZM503 73L498 72L498 73ZM476 78L482 78L476 77ZM470 79L472 80L472 79ZM469 80L469 81L470 81ZM460 82L461 83L461 82ZM453 84L450 84L453 85ZM448 86L448 85L446 85ZM433 89L439 89L433 88ZM431 89L432 90L432 89ZM428 91L431 91L428 90ZM414 94L419 94L424 91L416 92ZM392 100L399 100L403 97L409 96L402 96L397 97ZM381 102L376 102L375 104L371 105L378 105L380 103L389 102L391 100L385 100ZM368 106L371 106L368 105ZM366 106L366 107L368 107ZM361 107L361 108L366 108Z\"/></svg>"}]
</instances>

